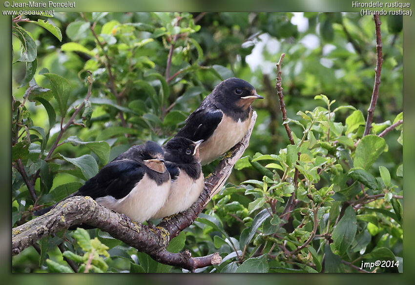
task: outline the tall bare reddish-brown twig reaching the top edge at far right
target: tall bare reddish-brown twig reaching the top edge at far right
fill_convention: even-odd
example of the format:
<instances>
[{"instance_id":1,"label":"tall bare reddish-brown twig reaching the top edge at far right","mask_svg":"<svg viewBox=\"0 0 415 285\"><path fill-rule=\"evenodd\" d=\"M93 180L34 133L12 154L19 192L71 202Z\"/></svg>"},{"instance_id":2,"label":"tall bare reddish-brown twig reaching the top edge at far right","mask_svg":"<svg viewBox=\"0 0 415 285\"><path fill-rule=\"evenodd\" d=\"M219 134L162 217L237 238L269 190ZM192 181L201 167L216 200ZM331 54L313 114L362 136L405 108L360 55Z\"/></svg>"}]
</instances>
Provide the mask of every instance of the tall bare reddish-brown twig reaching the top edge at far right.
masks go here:
<instances>
[{"instance_id":1,"label":"tall bare reddish-brown twig reaching the top edge at far right","mask_svg":"<svg viewBox=\"0 0 415 285\"><path fill-rule=\"evenodd\" d=\"M375 75L374 75L374 85L373 85L373 93L371 104L368 109L368 118L366 120L365 132L363 136L370 133L372 129L372 121L373 121L373 113L374 108L376 107L377 97L379 94L379 86L380 86L380 72L382 70L382 37L380 35L380 24L379 15L373 15L375 30L376 30L376 68L375 68Z\"/></svg>"}]
</instances>

